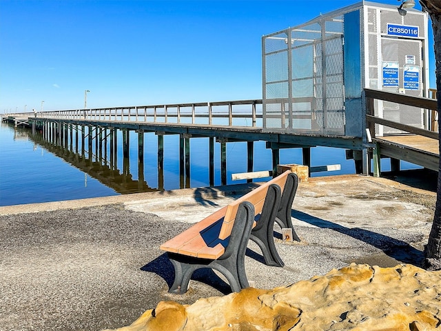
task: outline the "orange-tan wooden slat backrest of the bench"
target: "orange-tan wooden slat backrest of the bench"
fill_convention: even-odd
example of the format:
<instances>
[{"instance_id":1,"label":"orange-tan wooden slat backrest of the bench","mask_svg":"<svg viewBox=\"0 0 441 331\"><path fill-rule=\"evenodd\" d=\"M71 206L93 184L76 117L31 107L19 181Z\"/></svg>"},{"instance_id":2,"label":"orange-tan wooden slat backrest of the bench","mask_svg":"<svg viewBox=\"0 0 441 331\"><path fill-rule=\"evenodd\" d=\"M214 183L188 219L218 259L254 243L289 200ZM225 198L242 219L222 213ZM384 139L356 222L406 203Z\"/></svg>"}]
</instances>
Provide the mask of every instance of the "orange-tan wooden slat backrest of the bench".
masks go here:
<instances>
[{"instance_id":1,"label":"orange-tan wooden slat backrest of the bench","mask_svg":"<svg viewBox=\"0 0 441 331\"><path fill-rule=\"evenodd\" d=\"M248 192L239 199L227 205L227 210L225 211L225 216L223 219L222 228L220 228L219 239L227 239L232 233L232 228L234 225L234 219L236 219L236 214L240 203L243 201L249 201L254 205L254 216L262 212L263 204L265 203L265 197L267 196L267 190L269 185L277 184L280 187L281 192L285 188L285 182L287 181L288 174L291 173L290 170L283 172L278 177L267 181L266 183L260 185L258 188Z\"/></svg>"}]
</instances>

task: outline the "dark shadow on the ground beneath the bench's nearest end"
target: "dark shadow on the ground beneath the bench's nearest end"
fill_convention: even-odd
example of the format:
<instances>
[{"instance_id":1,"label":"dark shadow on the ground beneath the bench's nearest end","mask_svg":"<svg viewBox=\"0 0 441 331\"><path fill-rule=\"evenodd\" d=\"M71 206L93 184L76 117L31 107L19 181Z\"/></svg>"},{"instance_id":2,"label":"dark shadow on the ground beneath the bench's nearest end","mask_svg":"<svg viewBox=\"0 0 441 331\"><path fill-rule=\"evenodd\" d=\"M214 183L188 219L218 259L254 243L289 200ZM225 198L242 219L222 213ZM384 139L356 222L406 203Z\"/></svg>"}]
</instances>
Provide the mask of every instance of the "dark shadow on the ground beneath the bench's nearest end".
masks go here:
<instances>
[{"instance_id":1,"label":"dark shadow on the ground beneath the bench's nearest end","mask_svg":"<svg viewBox=\"0 0 441 331\"><path fill-rule=\"evenodd\" d=\"M159 277L164 279L164 281L167 283L168 288L172 287L174 281L174 268L167 257L167 253L161 254L160 256L156 257L156 259L144 265L141 270L146 272L154 272ZM212 269L209 268L196 270L192 274L191 279L209 285L224 295L232 292L232 289L229 287L229 283L224 281Z\"/></svg>"}]
</instances>

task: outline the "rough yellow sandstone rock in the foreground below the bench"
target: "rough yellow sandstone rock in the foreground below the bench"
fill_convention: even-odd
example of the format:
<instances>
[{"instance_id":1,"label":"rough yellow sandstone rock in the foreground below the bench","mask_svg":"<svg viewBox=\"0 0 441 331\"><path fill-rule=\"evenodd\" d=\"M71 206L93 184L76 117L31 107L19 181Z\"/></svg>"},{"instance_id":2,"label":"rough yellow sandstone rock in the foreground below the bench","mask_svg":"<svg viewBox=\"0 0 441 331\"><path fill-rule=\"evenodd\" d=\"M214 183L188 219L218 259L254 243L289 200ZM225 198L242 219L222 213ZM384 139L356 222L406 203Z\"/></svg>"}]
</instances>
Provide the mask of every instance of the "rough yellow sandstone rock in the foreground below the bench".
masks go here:
<instances>
[{"instance_id":1,"label":"rough yellow sandstone rock in the foreground below the bench","mask_svg":"<svg viewBox=\"0 0 441 331\"><path fill-rule=\"evenodd\" d=\"M273 290L161 302L117 330L441 330L441 271L351 264Z\"/></svg>"}]
</instances>

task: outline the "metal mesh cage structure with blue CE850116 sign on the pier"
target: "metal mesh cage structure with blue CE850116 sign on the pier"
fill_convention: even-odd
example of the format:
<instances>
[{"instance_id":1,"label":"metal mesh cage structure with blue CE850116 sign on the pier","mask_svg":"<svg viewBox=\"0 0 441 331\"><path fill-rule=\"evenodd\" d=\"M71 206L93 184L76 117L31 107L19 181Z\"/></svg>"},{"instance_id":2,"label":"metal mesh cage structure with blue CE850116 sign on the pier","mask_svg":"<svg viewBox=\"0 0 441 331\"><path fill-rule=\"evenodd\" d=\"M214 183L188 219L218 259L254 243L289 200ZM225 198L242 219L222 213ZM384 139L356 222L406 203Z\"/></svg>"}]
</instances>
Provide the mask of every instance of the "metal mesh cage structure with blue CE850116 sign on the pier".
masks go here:
<instances>
[{"instance_id":1,"label":"metal mesh cage structure with blue CE850116 sign on the pier","mask_svg":"<svg viewBox=\"0 0 441 331\"><path fill-rule=\"evenodd\" d=\"M264 130L365 138L363 88L427 96L428 15L404 13L363 1L263 36ZM427 126L425 110L386 102L376 109Z\"/></svg>"}]
</instances>

